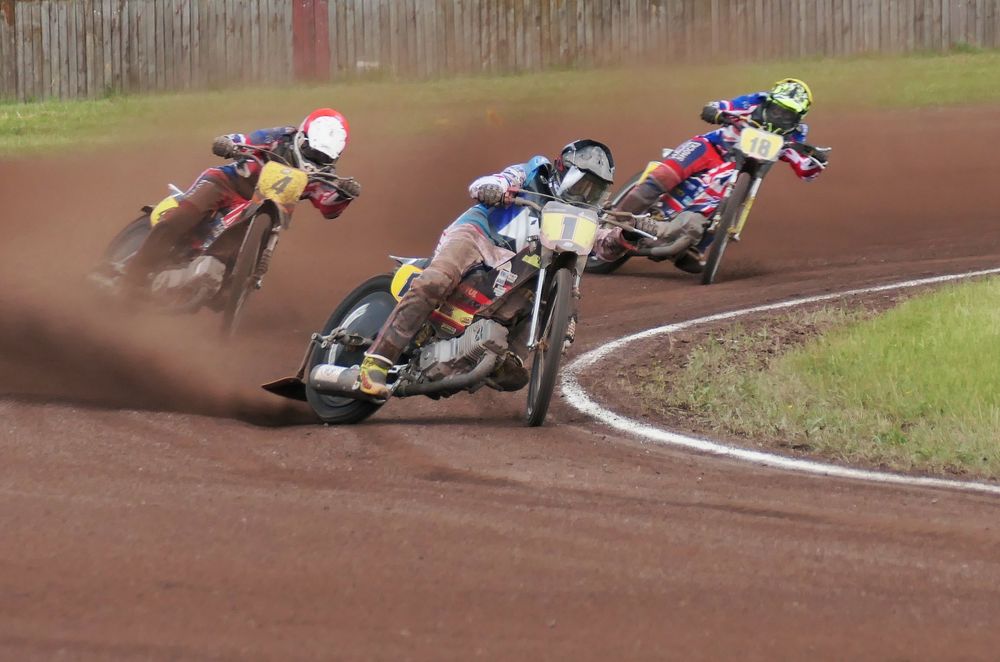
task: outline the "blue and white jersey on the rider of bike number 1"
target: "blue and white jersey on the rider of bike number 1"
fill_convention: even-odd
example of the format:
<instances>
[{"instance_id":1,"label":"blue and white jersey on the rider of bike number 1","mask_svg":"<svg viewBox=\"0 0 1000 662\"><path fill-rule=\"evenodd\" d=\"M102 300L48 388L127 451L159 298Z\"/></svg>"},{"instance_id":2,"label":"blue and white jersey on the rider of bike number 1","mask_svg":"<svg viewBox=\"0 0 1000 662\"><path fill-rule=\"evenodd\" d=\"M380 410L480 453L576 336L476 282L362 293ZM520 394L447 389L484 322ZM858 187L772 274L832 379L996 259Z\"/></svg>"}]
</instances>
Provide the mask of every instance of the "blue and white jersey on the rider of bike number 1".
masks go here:
<instances>
[{"instance_id":1,"label":"blue and white jersey on the rider of bike number 1","mask_svg":"<svg viewBox=\"0 0 1000 662\"><path fill-rule=\"evenodd\" d=\"M525 189L517 194L519 198L527 198L538 204L545 204L548 198L531 195L527 191L553 195L552 189L555 185L555 172L552 162L544 156L533 156L526 163L518 163L507 166L503 171L495 175L486 175L472 182L469 185L469 195L476 199L480 189L484 186L500 186L504 190L511 188ZM451 224L457 225L474 224L483 234L490 238L497 246L502 246L509 250L516 251L521 243L522 237L514 233L505 232L511 229L512 222L522 214L528 214L527 207L515 205L498 205L487 207L479 203L464 214L459 216Z\"/></svg>"}]
</instances>

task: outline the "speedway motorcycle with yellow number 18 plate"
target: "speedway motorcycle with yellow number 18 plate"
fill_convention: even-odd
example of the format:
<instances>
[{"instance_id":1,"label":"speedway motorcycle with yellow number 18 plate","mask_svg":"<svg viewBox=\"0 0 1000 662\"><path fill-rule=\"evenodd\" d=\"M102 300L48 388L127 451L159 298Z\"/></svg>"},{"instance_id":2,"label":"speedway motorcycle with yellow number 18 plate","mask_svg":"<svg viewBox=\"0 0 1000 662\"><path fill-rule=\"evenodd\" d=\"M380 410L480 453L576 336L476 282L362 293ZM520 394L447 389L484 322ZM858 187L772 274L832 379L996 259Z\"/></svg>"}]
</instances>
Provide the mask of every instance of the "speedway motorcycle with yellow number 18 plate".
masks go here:
<instances>
[{"instance_id":1,"label":"speedway motorcycle with yellow number 18 plate","mask_svg":"<svg viewBox=\"0 0 1000 662\"><path fill-rule=\"evenodd\" d=\"M734 162L732 173L725 183L722 199L715 213L707 219L704 234L702 235L703 238L699 244L703 245L705 241L711 239L701 272L701 283L703 285L711 285L716 281L726 247L729 245L729 242L738 242L740 240L743 229L746 226L747 218L750 216L750 209L753 207L753 203L760 191L761 183L768 172L770 172L771 167L781 156L782 150L787 147L809 156L828 149L817 148L805 143L786 141L785 136L764 131L756 122L742 115L726 113L723 115L723 118L728 124L740 126L741 130L739 140L737 140L731 150L731 158ZM664 149L663 158L669 157L672 151ZM621 200L644 175L657 165L659 165L659 162L651 161L645 170L632 177L618 195L615 196L613 204ZM656 220L666 220L669 217L666 210L667 208L664 206L664 203L660 201L653 206L650 214ZM641 246L635 251L630 251L613 262L603 262L594 256L590 256L587 261L586 270L593 273L612 273L635 256L648 257L654 261L675 259L681 252L687 250L686 243L678 247L679 243L657 244L649 242L648 245Z\"/></svg>"}]
</instances>

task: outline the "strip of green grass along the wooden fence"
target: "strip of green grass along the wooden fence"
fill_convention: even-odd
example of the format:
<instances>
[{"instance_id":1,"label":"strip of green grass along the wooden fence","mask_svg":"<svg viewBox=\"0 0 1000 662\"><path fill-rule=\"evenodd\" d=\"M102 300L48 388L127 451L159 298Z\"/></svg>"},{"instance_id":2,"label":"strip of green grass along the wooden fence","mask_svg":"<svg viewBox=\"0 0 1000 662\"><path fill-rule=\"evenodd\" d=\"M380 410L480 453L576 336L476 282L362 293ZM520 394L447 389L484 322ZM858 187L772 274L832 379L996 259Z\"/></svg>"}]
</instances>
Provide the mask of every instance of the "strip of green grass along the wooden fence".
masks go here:
<instances>
[{"instance_id":1,"label":"strip of green grass along the wooden fence","mask_svg":"<svg viewBox=\"0 0 1000 662\"><path fill-rule=\"evenodd\" d=\"M267 126L304 109L335 105L412 134L471 122L515 124L532 114L601 112L630 99L636 113L699 108L710 99L764 89L794 75L808 80L815 114L843 108L909 108L1000 102L1000 52L811 59L767 64L570 70L424 82L361 81L285 88L111 96L71 102L0 103L0 157L40 150L206 134ZM694 111L691 111L694 112ZM280 119L279 119L280 118ZM287 121L287 120L285 120Z\"/></svg>"}]
</instances>

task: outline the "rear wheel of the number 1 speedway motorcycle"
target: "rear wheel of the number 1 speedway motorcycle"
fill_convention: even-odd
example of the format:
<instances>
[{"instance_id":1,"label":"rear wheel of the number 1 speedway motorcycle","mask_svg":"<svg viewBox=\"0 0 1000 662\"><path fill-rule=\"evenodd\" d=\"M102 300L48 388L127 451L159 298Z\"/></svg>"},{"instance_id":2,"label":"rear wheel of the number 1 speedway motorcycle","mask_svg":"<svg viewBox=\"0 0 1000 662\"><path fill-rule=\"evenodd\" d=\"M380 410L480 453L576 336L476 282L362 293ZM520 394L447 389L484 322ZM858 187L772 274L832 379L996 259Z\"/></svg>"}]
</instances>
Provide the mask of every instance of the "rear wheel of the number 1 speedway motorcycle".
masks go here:
<instances>
[{"instance_id":1,"label":"rear wheel of the number 1 speedway motorcycle","mask_svg":"<svg viewBox=\"0 0 1000 662\"><path fill-rule=\"evenodd\" d=\"M374 338L396 305L390 290L391 285L392 276L388 274L366 280L337 306L330 319L323 325L322 334L327 335L338 326L344 326L359 335ZM364 360L364 354L364 350L361 349L350 351L341 345L333 345L325 350L317 348L309 355L303 375L306 382L306 400L324 423L359 423L382 406L367 400L323 395L309 386L309 375L317 365L329 363L349 368L360 365Z\"/></svg>"}]
</instances>

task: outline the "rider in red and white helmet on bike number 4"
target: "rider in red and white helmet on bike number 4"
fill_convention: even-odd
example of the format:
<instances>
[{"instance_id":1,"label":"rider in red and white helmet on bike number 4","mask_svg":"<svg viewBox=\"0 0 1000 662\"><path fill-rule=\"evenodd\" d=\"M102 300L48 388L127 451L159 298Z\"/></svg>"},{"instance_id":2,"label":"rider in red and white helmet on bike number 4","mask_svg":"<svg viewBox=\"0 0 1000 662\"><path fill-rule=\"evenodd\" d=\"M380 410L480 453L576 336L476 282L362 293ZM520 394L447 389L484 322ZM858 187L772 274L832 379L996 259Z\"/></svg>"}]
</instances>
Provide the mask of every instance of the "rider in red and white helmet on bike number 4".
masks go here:
<instances>
[{"instance_id":1,"label":"rider in red and white helmet on bike number 4","mask_svg":"<svg viewBox=\"0 0 1000 662\"><path fill-rule=\"evenodd\" d=\"M350 128L343 115L331 108L320 108L310 113L297 129L286 126L216 138L212 143L212 153L236 160L204 171L191 188L178 196L178 206L163 213L127 263L125 284L143 291L151 272L169 257L175 245L194 235L200 226L210 223L217 212L232 209L249 200L263 168L261 161L273 158L268 152L274 152L307 173L332 174L337 159L347 147L349 134ZM249 158L248 153L260 161ZM336 185L314 180L306 186L302 199L308 198L325 218L333 219L340 216L360 193L361 185L353 179L337 180ZM211 281L215 286L221 285L225 265L208 255L197 260L196 268L184 267L159 274L154 281L154 290L158 293L177 291L192 287L195 281L198 284Z\"/></svg>"}]
</instances>

